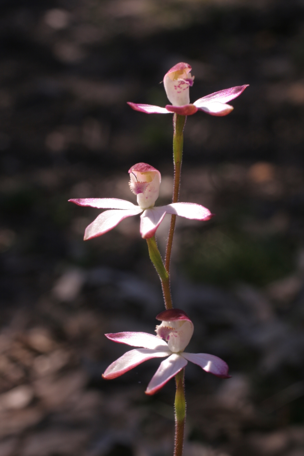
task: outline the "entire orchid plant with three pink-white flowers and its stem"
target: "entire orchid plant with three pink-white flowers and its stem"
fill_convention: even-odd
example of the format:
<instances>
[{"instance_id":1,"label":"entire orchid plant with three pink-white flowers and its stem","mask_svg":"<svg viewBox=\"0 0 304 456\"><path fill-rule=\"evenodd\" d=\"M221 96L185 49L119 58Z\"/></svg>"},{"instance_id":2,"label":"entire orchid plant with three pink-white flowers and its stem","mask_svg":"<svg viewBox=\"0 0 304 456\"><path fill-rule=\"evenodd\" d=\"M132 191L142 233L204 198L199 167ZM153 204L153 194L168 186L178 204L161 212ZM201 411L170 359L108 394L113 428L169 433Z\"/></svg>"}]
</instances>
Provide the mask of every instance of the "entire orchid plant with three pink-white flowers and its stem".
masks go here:
<instances>
[{"instance_id":1,"label":"entire orchid plant with three pink-white flowers and its stem","mask_svg":"<svg viewBox=\"0 0 304 456\"><path fill-rule=\"evenodd\" d=\"M114 361L103 373L103 378L119 377L128 370L150 358L165 358L151 379L146 394L155 394L170 378L175 377L175 448L174 456L182 456L185 427L185 385L184 368L188 361L201 366L206 372L217 377L229 378L228 366L220 358L206 353L185 353L194 326L190 318L180 309L173 309L170 292L170 258L175 230L176 216L201 221L209 220L213 214L206 207L191 202L178 202L180 192L180 171L183 153L183 130L186 116L204 111L214 116L229 114L233 107L228 101L238 97L247 85L237 86L211 93L190 103L189 88L193 85L194 76L191 76L191 66L180 62L171 68L164 77L164 87L171 104L165 108L149 104L135 104L129 102L131 108L147 114L173 115L173 163L174 189L172 203L166 206L156 206L159 196L161 175L153 166L147 163L137 163L129 169L130 190L137 195L138 205L117 198L79 198L71 199L79 206L98 207L109 209L102 212L88 225L84 239L91 239L107 233L115 228L124 218L140 215L140 234L146 239L149 256L157 270L165 301L164 312L156 316L162 323L156 326L156 336L144 332L119 332L106 334L114 342L139 347L126 352ZM171 214L170 230L167 240L165 263L161 258L155 240L155 232L165 214Z\"/></svg>"}]
</instances>

